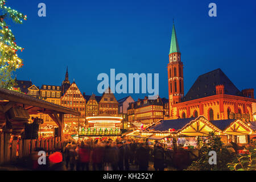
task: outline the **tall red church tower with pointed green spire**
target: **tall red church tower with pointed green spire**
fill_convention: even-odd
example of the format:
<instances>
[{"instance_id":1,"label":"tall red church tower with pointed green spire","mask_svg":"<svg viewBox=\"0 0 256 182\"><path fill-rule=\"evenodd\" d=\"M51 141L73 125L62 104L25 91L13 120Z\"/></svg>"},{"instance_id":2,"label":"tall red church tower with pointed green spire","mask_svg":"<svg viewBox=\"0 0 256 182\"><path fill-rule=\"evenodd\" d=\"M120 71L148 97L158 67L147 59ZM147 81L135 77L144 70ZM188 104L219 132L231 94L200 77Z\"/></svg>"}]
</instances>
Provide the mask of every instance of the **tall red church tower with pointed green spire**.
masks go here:
<instances>
[{"instance_id":1,"label":"tall red church tower with pointed green spire","mask_svg":"<svg viewBox=\"0 0 256 182\"><path fill-rule=\"evenodd\" d=\"M171 48L168 63L168 93L170 117L173 116L172 105L181 102L184 96L183 63L174 25L172 26Z\"/></svg>"}]
</instances>

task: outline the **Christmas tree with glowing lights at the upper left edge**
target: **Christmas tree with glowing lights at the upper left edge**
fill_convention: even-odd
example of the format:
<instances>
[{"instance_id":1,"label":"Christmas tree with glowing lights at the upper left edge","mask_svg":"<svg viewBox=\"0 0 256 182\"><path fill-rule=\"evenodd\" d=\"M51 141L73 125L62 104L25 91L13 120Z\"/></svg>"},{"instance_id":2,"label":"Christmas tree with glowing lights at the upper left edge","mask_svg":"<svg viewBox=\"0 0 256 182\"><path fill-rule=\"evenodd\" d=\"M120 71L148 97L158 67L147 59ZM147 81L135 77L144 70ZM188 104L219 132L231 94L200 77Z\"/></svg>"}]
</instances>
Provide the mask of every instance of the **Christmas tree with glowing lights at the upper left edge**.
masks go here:
<instances>
[{"instance_id":1,"label":"Christmas tree with glowing lights at the upper left edge","mask_svg":"<svg viewBox=\"0 0 256 182\"><path fill-rule=\"evenodd\" d=\"M0 0L0 86L2 88L13 89L13 72L22 67L23 61L16 54L24 48L19 47L15 42L13 32L6 24L5 19L12 19L14 23L22 24L22 20L27 20L27 15L23 15L10 7L5 6L6 0Z\"/></svg>"}]
</instances>

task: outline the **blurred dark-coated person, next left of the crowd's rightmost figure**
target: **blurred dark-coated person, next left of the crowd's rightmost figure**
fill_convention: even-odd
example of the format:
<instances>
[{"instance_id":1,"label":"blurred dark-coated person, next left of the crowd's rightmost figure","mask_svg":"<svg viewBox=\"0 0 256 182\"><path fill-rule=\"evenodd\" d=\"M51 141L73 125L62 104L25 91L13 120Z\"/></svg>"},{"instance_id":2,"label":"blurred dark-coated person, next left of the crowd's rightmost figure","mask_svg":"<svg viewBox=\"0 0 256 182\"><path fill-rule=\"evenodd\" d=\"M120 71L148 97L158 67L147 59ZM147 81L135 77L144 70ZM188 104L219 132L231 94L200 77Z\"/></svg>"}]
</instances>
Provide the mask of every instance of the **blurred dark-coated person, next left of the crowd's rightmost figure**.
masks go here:
<instances>
[{"instance_id":1,"label":"blurred dark-coated person, next left of the crowd's rightmost figure","mask_svg":"<svg viewBox=\"0 0 256 182\"><path fill-rule=\"evenodd\" d=\"M139 165L139 171L147 171L149 151L146 148L146 143L141 143L137 150L137 163Z\"/></svg>"}]
</instances>

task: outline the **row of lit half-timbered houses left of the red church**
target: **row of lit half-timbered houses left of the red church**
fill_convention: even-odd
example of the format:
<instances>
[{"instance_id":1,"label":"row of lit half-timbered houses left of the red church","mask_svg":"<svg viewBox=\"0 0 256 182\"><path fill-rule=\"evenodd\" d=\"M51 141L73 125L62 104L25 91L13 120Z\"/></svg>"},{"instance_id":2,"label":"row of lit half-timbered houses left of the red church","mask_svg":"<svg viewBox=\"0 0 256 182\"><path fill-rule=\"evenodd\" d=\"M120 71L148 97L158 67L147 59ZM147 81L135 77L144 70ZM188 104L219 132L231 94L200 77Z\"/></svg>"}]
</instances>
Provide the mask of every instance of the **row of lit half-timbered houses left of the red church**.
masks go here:
<instances>
[{"instance_id":1,"label":"row of lit half-timbered houses left of the red church","mask_svg":"<svg viewBox=\"0 0 256 182\"><path fill-rule=\"evenodd\" d=\"M141 123L157 122L159 119L164 119L169 113L166 98L159 97L156 100L148 100L145 97L144 100L139 99L135 102L131 96L127 96L117 101L110 88L102 96L86 95L80 91L75 81L71 84L68 78L68 69L61 85L35 86L31 81L21 80L17 80L17 83L23 93L52 104L80 111L80 117L71 114L64 115L66 133L75 133L79 126L88 124L86 117L96 117L102 114L122 117L121 128L127 129L133 123L140 125ZM44 120L41 126L42 133L53 133L53 128L57 127L53 119L43 113L38 117Z\"/></svg>"}]
</instances>

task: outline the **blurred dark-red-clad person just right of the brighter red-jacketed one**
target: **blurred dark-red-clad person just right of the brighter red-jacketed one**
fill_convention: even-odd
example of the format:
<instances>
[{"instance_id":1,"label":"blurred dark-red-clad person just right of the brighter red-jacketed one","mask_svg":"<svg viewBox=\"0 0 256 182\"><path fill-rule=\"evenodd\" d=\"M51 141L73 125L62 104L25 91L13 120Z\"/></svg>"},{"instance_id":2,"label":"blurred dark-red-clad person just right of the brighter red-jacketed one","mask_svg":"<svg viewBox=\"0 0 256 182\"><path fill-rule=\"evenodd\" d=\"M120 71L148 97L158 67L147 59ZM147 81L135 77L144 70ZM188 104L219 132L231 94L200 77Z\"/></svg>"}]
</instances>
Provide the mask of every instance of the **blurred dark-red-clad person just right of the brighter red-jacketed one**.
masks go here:
<instances>
[{"instance_id":1,"label":"blurred dark-red-clad person just right of the brighter red-jacketed one","mask_svg":"<svg viewBox=\"0 0 256 182\"><path fill-rule=\"evenodd\" d=\"M97 143L93 148L92 152L92 163L93 163L93 171L103 170L103 161L104 161L104 143Z\"/></svg>"}]
</instances>

